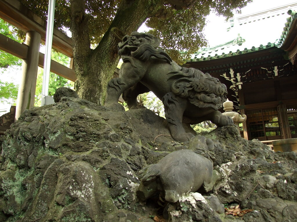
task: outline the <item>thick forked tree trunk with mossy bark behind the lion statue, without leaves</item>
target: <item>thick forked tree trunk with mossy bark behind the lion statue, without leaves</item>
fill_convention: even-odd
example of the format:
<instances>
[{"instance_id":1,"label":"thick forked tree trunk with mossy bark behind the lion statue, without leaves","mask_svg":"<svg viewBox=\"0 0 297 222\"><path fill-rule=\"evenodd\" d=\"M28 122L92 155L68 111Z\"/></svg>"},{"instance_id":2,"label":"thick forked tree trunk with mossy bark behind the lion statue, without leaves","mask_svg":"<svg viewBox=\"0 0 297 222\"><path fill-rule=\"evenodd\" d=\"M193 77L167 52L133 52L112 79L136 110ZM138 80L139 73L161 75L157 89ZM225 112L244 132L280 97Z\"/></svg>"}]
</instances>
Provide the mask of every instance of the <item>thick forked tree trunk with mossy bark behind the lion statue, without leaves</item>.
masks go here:
<instances>
[{"instance_id":1,"label":"thick forked tree trunk with mossy bark behind the lion statue, without leaves","mask_svg":"<svg viewBox=\"0 0 297 222\"><path fill-rule=\"evenodd\" d=\"M124 35L137 30L157 10L160 1L122 0L113 22L94 50L90 49L85 1L70 2L73 62L77 75L75 90L81 98L103 105L107 83L119 62L117 44Z\"/></svg>"}]
</instances>

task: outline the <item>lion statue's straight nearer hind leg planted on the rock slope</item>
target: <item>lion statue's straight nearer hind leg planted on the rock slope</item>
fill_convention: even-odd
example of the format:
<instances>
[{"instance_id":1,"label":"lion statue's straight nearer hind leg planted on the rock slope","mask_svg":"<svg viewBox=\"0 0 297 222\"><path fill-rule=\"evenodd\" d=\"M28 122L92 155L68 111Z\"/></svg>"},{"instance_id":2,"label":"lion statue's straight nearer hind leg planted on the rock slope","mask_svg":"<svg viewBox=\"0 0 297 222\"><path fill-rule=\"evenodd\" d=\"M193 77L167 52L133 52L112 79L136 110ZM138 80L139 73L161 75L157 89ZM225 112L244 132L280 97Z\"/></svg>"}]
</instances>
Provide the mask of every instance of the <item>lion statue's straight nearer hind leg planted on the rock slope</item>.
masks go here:
<instances>
[{"instance_id":1,"label":"lion statue's straight nearer hind leg planted on the rock slope","mask_svg":"<svg viewBox=\"0 0 297 222\"><path fill-rule=\"evenodd\" d=\"M184 110L187 107L187 100L182 99L173 93L167 93L163 98L165 117L168 122L171 136L178 141L187 141L194 135L186 133L182 125Z\"/></svg>"}]
</instances>

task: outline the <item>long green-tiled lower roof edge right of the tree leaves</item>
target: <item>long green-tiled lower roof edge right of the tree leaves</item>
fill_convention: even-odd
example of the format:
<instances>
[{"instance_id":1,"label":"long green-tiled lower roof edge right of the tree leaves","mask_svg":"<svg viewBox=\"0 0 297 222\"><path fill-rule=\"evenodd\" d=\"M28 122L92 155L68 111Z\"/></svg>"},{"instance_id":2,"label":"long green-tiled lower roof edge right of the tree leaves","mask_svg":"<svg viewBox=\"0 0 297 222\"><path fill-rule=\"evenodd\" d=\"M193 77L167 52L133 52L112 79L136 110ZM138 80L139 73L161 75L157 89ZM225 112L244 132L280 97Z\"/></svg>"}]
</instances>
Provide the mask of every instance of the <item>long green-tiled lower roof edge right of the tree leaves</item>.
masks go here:
<instances>
[{"instance_id":1,"label":"long green-tiled lower roof edge right of the tree leaves","mask_svg":"<svg viewBox=\"0 0 297 222\"><path fill-rule=\"evenodd\" d=\"M247 49L245 48L244 50L240 51L239 49L236 50L236 52L232 52L230 51L228 54L222 53L222 55L215 55L215 56L210 56L208 55L208 57L203 57L201 56L200 58L194 57L194 59L190 59L189 62L200 62L200 61L206 61L206 60L213 60L213 59L221 59L221 58L227 58L227 57L232 57L232 56L236 56L236 55L242 55L242 54L246 54L249 52L255 52L255 51L260 51L262 49L268 49L275 46L274 43L270 43L268 42L266 46L263 46L262 44L259 47L255 47L252 46L251 49Z\"/></svg>"}]
</instances>

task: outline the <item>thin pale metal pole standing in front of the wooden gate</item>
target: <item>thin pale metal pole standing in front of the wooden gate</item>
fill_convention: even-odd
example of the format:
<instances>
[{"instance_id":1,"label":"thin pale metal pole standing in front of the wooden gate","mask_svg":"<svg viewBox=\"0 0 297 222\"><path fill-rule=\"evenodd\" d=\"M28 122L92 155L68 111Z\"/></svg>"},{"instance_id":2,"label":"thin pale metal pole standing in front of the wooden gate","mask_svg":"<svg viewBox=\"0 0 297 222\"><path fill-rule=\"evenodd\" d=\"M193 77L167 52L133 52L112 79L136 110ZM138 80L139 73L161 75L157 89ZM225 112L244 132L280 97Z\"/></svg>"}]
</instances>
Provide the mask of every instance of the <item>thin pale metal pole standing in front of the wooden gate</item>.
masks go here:
<instances>
[{"instance_id":1,"label":"thin pale metal pole standing in front of the wooden gate","mask_svg":"<svg viewBox=\"0 0 297 222\"><path fill-rule=\"evenodd\" d=\"M53 42L53 28L54 28L54 16L55 16L55 4L56 0L49 0L48 2L48 22L46 25L46 37L45 37L45 57L43 68L43 82L42 82L42 103L45 105L45 96L48 96L48 82L50 78L50 56L52 52Z\"/></svg>"}]
</instances>

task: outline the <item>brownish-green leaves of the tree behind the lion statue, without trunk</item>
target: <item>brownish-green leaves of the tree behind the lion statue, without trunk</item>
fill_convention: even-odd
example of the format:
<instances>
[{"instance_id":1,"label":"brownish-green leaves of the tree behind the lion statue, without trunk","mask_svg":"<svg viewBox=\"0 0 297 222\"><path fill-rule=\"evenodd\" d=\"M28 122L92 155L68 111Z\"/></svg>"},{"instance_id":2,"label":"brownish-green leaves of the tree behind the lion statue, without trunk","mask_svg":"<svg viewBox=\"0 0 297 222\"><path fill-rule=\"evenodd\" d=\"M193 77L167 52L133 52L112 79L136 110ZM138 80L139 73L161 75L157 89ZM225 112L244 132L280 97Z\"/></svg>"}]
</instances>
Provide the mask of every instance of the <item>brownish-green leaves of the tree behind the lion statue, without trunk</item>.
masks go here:
<instances>
[{"instance_id":1,"label":"brownish-green leaves of the tree behind the lion statue, without trunk","mask_svg":"<svg viewBox=\"0 0 297 222\"><path fill-rule=\"evenodd\" d=\"M20 0L37 15L46 19L48 1L47 0ZM81 0L84 1L84 0ZM134 0L136 1L136 0ZM150 31L158 38L161 38L162 48L166 48L173 60L181 61L190 54L197 52L200 46L206 46L207 42L203 35L206 15L211 10L218 15L224 15L229 18L233 15L233 10L244 7L251 0L200 0L187 2L181 1L180 5L176 1L150 0L144 1L147 4L148 11L151 13L146 25L151 28ZM123 4L128 5L125 1ZM183 3L185 2L185 3ZM55 22L54 25L61 31L70 27L69 16L70 0L56 0ZM85 1L86 13L89 22L89 37L91 44L98 44L105 32L110 28L110 24L116 19L117 10L121 5L120 0L115 1ZM152 7L157 10L153 10ZM127 10L129 10L127 8ZM129 20L127 19L127 22ZM125 32L125 30L121 30ZM125 33L128 34L128 33ZM187 52L180 54L179 52Z\"/></svg>"}]
</instances>

